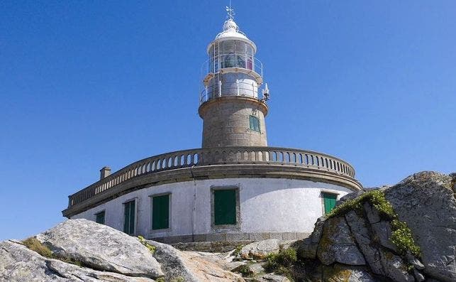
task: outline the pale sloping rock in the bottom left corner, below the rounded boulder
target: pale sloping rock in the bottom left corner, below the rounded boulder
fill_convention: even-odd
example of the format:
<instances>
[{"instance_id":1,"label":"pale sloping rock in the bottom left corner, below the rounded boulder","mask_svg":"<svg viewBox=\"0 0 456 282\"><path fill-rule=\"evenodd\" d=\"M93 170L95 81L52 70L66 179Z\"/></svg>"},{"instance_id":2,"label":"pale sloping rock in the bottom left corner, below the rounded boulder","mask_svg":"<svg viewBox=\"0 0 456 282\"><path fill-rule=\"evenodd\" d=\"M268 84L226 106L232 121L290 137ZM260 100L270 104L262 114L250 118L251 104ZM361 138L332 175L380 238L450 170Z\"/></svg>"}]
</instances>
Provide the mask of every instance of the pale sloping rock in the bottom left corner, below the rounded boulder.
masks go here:
<instances>
[{"instance_id":1,"label":"pale sloping rock in the bottom left corner, below the rounded boulder","mask_svg":"<svg viewBox=\"0 0 456 282\"><path fill-rule=\"evenodd\" d=\"M130 277L108 271L96 271L74 264L67 264L56 259L48 259L13 241L0 243L0 281L153 282L150 278Z\"/></svg>"}]
</instances>

